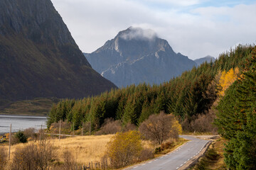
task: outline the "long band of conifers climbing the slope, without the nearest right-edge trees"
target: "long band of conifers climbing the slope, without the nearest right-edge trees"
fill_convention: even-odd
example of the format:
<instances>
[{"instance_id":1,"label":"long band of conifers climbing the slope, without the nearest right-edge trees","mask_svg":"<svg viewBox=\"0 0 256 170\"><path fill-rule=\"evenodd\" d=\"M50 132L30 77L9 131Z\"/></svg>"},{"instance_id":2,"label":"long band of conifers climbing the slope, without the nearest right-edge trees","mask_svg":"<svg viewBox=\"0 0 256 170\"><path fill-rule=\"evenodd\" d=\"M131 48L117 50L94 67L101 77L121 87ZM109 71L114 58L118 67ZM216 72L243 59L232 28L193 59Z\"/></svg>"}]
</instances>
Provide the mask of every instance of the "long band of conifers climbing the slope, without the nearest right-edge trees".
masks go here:
<instances>
[{"instance_id":1,"label":"long band of conifers climbing the slope, without the nearest right-edge trees","mask_svg":"<svg viewBox=\"0 0 256 170\"><path fill-rule=\"evenodd\" d=\"M121 120L122 125L139 125L149 115L160 111L176 115L186 131L194 131L198 122L205 123L205 120L196 120L206 114L210 117L207 123L210 125L214 119L210 108L218 96L217 92L222 90L219 80L223 71L235 70L235 67L245 69L252 48L239 45L235 50L220 55L215 62L193 67L191 71L183 72L181 77L159 86L139 84L80 100L64 99L53 105L48 115L48 128L59 120L67 120L75 124L75 129L80 128L82 122L90 122L92 130L98 130L106 118Z\"/></svg>"}]
</instances>

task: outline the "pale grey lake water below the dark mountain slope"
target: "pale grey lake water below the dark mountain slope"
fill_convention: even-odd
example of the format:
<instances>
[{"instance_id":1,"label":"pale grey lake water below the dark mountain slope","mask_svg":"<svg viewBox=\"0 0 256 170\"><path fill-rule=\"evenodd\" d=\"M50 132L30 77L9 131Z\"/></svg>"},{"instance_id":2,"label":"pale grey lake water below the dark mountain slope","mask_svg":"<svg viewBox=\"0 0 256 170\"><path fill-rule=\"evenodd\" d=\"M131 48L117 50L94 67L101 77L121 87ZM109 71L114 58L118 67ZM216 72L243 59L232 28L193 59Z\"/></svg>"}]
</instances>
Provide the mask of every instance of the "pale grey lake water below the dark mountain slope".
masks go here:
<instances>
[{"instance_id":1,"label":"pale grey lake water below the dark mountain slope","mask_svg":"<svg viewBox=\"0 0 256 170\"><path fill-rule=\"evenodd\" d=\"M41 125L46 128L45 116L31 116L31 115L0 115L0 134L5 132L17 132L18 130L25 130L27 128L36 128L39 130Z\"/></svg>"}]
</instances>

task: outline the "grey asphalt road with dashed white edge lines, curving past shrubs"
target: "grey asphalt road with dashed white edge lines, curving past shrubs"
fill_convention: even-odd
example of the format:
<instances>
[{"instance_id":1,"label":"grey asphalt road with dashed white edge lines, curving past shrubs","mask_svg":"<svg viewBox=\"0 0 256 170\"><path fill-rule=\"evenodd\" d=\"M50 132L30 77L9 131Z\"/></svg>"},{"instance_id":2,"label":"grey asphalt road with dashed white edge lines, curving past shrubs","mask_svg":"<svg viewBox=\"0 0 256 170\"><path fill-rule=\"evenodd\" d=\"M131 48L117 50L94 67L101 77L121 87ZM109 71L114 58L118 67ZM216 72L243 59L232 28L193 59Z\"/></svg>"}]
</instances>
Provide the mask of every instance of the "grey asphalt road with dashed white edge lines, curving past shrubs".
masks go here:
<instances>
[{"instance_id":1,"label":"grey asphalt road with dashed white edge lines, curving past shrubs","mask_svg":"<svg viewBox=\"0 0 256 170\"><path fill-rule=\"evenodd\" d=\"M181 135L180 137L186 138L188 141L186 144L178 147L173 152L165 154L162 157L152 159L148 162L138 164L137 166L132 166L127 169L134 170L158 170L158 169L179 169L181 166L186 164L189 160L196 157L197 154L201 152L203 147L209 142L208 140L201 140L196 137L191 137L187 135Z\"/></svg>"}]
</instances>

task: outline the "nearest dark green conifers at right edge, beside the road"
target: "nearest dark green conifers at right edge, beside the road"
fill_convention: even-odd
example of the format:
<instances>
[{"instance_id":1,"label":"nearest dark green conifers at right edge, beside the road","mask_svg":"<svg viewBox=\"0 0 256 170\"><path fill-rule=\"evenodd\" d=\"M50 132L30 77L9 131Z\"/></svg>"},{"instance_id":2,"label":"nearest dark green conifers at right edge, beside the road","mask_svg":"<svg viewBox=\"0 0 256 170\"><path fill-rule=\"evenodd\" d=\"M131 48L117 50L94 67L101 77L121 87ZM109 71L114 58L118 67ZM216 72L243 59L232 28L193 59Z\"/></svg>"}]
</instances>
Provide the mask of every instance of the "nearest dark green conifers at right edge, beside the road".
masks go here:
<instances>
[{"instance_id":1,"label":"nearest dark green conifers at right edge, beside the road","mask_svg":"<svg viewBox=\"0 0 256 170\"><path fill-rule=\"evenodd\" d=\"M256 47L241 76L218 104L215 124L228 139L225 163L228 169L256 169Z\"/></svg>"}]
</instances>

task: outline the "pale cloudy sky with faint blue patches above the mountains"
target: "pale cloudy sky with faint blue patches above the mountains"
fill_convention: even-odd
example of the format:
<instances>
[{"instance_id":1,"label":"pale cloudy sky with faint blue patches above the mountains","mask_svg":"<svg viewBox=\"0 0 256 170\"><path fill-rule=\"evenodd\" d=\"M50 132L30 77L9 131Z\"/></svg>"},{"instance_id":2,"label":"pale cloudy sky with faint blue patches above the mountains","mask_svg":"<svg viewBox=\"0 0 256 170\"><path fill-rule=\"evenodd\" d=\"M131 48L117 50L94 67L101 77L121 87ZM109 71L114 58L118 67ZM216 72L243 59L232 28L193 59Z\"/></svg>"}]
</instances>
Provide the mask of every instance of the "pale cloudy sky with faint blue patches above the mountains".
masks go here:
<instances>
[{"instance_id":1,"label":"pale cloudy sky with faint blue patches above the mountains","mask_svg":"<svg viewBox=\"0 0 256 170\"><path fill-rule=\"evenodd\" d=\"M256 1L52 0L82 52L93 52L120 30L137 26L166 39L191 59L239 43L256 44Z\"/></svg>"}]
</instances>

